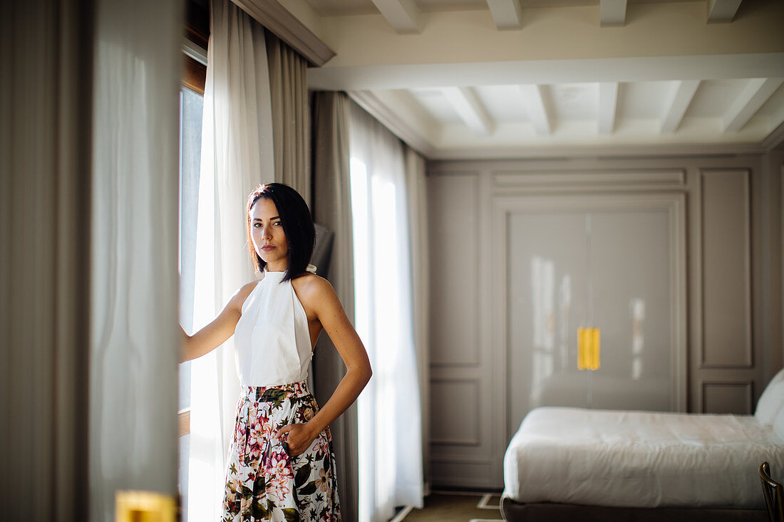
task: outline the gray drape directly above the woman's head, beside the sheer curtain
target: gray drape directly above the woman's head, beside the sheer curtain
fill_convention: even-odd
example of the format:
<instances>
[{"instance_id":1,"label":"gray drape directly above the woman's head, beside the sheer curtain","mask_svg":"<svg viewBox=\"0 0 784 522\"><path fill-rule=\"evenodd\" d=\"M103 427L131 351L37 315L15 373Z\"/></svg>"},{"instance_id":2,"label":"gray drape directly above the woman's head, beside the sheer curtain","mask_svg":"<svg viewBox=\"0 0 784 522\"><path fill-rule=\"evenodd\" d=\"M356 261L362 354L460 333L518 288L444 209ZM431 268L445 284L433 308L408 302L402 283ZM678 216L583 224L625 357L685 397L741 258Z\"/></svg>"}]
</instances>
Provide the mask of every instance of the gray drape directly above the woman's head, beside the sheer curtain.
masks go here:
<instances>
[{"instance_id":1,"label":"gray drape directly above the woman's head, beside the sheer curtain","mask_svg":"<svg viewBox=\"0 0 784 522\"><path fill-rule=\"evenodd\" d=\"M265 37L272 99L273 177L310 201L307 61L270 31L265 31Z\"/></svg>"}]
</instances>

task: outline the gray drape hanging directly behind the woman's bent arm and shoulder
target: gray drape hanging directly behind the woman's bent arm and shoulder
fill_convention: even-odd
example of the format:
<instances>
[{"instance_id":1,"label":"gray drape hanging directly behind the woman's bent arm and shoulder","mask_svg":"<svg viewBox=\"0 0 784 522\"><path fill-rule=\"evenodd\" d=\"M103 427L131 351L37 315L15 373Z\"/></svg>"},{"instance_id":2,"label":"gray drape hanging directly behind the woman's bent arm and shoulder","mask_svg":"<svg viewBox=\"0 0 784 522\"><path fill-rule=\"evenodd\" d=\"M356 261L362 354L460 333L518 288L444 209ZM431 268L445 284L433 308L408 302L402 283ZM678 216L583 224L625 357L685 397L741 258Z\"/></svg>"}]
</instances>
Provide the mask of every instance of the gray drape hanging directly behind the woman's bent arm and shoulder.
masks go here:
<instances>
[{"instance_id":1,"label":"gray drape hanging directly behind the woman's bent arm and shoulder","mask_svg":"<svg viewBox=\"0 0 784 522\"><path fill-rule=\"evenodd\" d=\"M334 232L328 280L354 321L354 264L349 182L348 97L342 92L316 92L313 100L314 219ZM319 404L332 395L346 373L345 365L328 336L321 335L314 352L314 393ZM358 446L357 404L330 426L335 445L338 490L343 520L357 520Z\"/></svg>"}]
</instances>

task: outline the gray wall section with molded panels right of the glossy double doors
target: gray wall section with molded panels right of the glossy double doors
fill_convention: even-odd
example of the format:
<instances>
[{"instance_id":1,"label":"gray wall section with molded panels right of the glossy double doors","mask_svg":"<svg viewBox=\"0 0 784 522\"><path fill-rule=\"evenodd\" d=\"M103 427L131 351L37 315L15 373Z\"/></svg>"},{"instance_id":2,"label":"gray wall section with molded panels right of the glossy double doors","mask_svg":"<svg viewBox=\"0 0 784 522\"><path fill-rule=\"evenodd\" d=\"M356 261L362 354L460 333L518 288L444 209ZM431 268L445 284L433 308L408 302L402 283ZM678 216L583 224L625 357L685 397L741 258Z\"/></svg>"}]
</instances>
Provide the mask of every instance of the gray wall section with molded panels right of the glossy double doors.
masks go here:
<instances>
[{"instance_id":1,"label":"gray wall section with molded panels right of the glossy double doors","mask_svg":"<svg viewBox=\"0 0 784 522\"><path fill-rule=\"evenodd\" d=\"M691 390L697 411L749 414L764 376L753 343L751 171L699 169L694 182Z\"/></svg>"}]
</instances>

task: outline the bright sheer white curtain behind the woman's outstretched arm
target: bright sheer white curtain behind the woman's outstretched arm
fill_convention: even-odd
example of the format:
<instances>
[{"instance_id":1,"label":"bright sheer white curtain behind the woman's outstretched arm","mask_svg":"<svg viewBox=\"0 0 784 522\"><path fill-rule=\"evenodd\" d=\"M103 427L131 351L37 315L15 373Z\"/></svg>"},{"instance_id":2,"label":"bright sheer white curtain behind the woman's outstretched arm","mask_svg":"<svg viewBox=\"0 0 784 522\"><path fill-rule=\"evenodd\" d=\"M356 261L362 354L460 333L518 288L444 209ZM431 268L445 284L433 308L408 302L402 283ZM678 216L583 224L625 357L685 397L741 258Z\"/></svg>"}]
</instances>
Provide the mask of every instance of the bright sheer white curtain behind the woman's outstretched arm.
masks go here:
<instances>
[{"instance_id":1,"label":"bright sheer white curtain behind the woman's outstretched arm","mask_svg":"<svg viewBox=\"0 0 784 522\"><path fill-rule=\"evenodd\" d=\"M245 237L245 198L274 172L263 28L229 0L210 8L201 129L194 330L255 277ZM191 367L190 520L217 520L239 382L232 339Z\"/></svg>"}]
</instances>

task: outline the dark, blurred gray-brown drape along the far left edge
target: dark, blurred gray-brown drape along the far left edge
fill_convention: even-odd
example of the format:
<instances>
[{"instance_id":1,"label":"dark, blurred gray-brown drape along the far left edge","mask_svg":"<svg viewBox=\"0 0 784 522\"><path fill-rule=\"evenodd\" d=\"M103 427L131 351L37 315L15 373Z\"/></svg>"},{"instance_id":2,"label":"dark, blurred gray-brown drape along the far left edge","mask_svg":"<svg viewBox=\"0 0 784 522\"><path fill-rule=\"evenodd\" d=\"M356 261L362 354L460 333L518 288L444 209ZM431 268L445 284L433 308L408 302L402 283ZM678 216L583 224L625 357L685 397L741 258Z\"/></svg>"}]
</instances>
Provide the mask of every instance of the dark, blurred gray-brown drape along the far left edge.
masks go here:
<instances>
[{"instance_id":1,"label":"dark, blurred gray-brown drape along the far left edge","mask_svg":"<svg viewBox=\"0 0 784 522\"><path fill-rule=\"evenodd\" d=\"M0 2L6 520L88 519L92 17L89 0Z\"/></svg>"}]
</instances>

